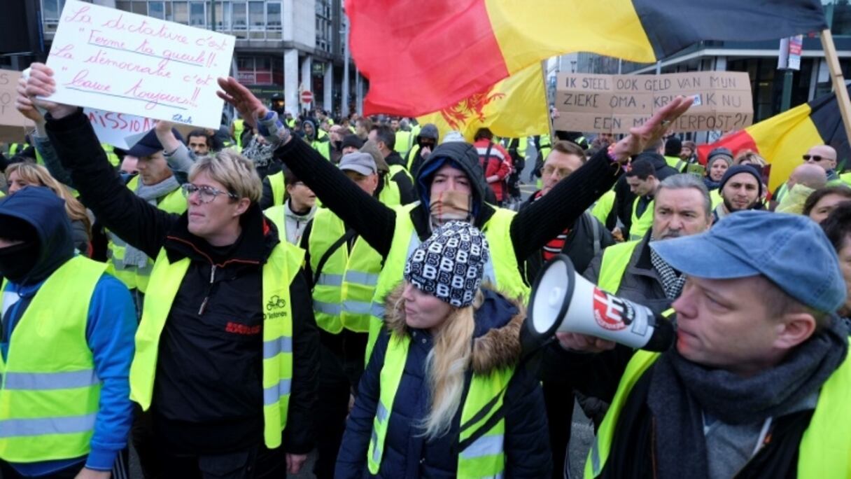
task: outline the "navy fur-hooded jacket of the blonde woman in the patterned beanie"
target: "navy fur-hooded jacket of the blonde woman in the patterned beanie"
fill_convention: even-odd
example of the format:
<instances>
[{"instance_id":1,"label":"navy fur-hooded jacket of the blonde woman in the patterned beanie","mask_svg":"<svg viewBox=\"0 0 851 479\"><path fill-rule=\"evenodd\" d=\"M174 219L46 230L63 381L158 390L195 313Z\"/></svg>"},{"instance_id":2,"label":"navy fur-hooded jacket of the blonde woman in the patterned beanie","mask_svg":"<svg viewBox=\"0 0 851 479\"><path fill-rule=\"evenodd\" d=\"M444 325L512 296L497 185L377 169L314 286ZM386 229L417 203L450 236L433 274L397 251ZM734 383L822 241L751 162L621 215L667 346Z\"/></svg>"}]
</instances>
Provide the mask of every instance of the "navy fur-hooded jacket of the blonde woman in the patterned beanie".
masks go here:
<instances>
[{"instance_id":1,"label":"navy fur-hooded jacket of the blonde woman in the patterned beanie","mask_svg":"<svg viewBox=\"0 0 851 479\"><path fill-rule=\"evenodd\" d=\"M417 421L429 410L426 356L432 348L431 335L405 325L403 311L394 308L402 288L388 295L386 325L363 373L357 400L346 421L340 455L334 477L368 477L367 451L373 419L380 396L380 374L384 365L389 331L411 338L402 380L391 406L385 452L378 477L393 479L414 477L451 478L457 476L461 407L446 436L426 440L417 429ZM511 303L494 291L483 290L485 301L475 313L472 368L486 373L498 367L516 364L520 355L520 327L523 305ZM389 331L388 331L389 330ZM470 387L471 370L466 374L465 398ZM551 457L546 434L546 413L540 384L534 374L518 368L505 391L505 477L549 477ZM463 404L463 400L462 400Z\"/></svg>"}]
</instances>

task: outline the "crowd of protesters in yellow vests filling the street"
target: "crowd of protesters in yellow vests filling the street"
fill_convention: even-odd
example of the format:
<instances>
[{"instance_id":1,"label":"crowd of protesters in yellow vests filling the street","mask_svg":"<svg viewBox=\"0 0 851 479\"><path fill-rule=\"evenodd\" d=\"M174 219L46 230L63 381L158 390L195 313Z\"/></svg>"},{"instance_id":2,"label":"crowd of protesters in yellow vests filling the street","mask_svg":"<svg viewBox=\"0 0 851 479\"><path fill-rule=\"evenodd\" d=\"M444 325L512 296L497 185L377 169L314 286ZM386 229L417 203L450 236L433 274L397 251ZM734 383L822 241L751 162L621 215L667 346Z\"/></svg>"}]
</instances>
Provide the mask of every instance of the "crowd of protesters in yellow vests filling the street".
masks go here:
<instances>
[{"instance_id":1,"label":"crowd of protesters in yellow vests filling the street","mask_svg":"<svg viewBox=\"0 0 851 479\"><path fill-rule=\"evenodd\" d=\"M620 138L465 138L219 85L236 120L160 121L123 151L50 101L47 66L21 79L36 128L0 156L4 479L128 477L129 444L146 479L283 477L311 453L319 478L565 477L574 404L587 477L851 476L833 147L701 164L667 134L683 98ZM779 161L800 164L771 192ZM560 257L671 321L670 349L530 349Z\"/></svg>"}]
</instances>

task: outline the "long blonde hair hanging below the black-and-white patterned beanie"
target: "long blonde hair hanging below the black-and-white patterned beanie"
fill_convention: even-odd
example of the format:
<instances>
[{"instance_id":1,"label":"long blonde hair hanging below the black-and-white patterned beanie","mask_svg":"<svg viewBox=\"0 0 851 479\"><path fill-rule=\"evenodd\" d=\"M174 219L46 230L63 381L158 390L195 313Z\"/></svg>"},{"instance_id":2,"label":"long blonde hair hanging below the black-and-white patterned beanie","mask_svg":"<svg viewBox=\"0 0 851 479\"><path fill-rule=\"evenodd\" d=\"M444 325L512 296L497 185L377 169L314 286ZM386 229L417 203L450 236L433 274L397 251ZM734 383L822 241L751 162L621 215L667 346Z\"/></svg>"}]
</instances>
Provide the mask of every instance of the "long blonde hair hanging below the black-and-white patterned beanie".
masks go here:
<instances>
[{"instance_id":1,"label":"long blonde hair hanging below the black-and-white patterned beanie","mask_svg":"<svg viewBox=\"0 0 851 479\"><path fill-rule=\"evenodd\" d=\"M472 361L473 314L482 302L482 292L478 291L471 306L453 308L433 332L434 346L426 356L431 409L418 424L428 439L447 434L460 407L465 374Z\"/></svg>"}]
</instances>

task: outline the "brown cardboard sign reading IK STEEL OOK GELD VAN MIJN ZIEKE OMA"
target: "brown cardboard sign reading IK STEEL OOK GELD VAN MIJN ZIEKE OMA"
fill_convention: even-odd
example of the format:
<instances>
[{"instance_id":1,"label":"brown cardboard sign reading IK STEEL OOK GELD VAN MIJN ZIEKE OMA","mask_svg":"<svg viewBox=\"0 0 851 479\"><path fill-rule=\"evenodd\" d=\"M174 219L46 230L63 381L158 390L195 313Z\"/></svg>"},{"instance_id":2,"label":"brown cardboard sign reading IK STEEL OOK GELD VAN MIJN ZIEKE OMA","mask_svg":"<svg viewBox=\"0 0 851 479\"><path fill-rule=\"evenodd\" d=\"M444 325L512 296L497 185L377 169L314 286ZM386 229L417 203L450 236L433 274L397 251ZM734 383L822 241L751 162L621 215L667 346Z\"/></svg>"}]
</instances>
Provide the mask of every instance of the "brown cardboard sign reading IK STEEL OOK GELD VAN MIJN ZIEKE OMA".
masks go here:
<instances>
[{"instance_id":1,"label":"brown cardboard sign reading IK STEEL OOK GELD VAN MIJN ZIEKE OMA","mask_svg":"<svg viewBox=\"0 0 851 479\"><path fill-rule=\"evenodd\" d=\"M753 122L751 80L746 72L665 75L560 73L553 120L557 130L628 133L675 96L694 104L671 132L739 130Z\"/></svg>"}]
</instances>

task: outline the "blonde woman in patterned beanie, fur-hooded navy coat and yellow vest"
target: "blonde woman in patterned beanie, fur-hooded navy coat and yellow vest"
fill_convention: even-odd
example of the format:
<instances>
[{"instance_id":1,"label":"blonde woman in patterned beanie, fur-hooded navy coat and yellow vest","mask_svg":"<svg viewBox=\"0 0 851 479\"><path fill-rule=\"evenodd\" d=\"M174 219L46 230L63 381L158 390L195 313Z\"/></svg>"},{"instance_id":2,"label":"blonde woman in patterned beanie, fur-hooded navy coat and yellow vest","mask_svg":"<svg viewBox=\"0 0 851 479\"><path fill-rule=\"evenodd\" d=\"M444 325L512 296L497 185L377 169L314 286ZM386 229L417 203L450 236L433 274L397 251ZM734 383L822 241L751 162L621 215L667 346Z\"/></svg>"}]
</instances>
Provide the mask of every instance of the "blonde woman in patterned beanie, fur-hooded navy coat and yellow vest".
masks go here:
<instances>
[{"instance_id":1,"label":"blonde woman in patterned beanie, fur-hooded navy coat and yellow vest","mask_svg":"<svg viewBox=\"0 0 851 479\"><path fill-rule=\"evenodd\" d=\"M515 367L525 309L481 285L487 261L487 240L464 222L409 257L335 477L550 476L540 384Z\"/></svg>"}]
</instances>

